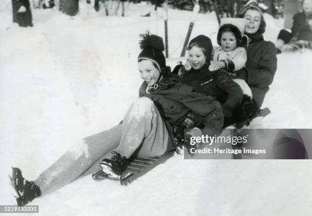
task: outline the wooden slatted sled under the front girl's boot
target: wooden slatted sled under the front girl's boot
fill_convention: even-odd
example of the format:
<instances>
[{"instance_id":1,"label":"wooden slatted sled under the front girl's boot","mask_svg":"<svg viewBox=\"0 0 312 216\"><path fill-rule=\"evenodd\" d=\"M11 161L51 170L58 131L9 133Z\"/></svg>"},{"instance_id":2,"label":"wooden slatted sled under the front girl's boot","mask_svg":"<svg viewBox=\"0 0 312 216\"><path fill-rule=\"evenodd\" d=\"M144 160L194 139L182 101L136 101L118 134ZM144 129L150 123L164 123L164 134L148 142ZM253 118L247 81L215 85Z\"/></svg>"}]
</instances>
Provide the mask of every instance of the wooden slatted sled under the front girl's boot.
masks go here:
<instances>
[{"instance_id":1,"label":"wooden slatted sled under the front girl's boot","mask_svg":"<svg viewBox=\"0 0 312 216\"><path fill-rule=\"evenodd\" d=\"M134 180L143 176L155 166L166 162L169 158L174 155L175 151L170 151L160 157L145 158L145 157L133 157L128 160L126 169L122 173L120 180L111 179L105 172L98 171L92 174L92 178L95 181L101 181L105 179L119 181L121 185L126 186L132 183Z\"/></svg>"}]
</instances>

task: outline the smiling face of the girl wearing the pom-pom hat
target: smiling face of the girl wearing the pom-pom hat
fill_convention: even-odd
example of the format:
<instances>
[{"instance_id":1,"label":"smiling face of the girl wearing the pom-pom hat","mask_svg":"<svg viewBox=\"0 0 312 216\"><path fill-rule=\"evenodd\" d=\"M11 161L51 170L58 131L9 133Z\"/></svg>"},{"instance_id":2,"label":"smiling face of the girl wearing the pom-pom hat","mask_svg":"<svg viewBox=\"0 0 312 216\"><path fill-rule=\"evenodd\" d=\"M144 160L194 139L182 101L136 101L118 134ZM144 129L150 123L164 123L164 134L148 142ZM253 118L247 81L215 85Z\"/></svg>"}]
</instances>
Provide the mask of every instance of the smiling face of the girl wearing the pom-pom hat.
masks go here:
<instances>
[{"instance_id":1,"label":"smiling face of the girl wearing the pom-pom hat","mask_svg":"<svg viewBox=\"0 0 312 216\"><path fill-rule=\"evenodd\" d=\"M138 62L141 78L148 84L154 85L160 78L160 71L152 61L142 60Z\"/></svg>"}]
</instances>

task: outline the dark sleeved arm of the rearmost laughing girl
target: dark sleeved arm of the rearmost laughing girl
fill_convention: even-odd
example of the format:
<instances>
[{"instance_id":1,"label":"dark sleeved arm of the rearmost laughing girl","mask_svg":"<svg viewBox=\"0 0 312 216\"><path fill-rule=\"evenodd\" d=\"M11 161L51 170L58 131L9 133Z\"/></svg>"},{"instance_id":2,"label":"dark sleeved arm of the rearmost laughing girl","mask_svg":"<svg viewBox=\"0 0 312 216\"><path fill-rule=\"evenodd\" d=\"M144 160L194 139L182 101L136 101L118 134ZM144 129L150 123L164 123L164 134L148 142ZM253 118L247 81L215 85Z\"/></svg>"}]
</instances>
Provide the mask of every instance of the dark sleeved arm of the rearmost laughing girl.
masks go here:
<instances>
[{"instance_id":1,"label":"dark sleeved arm of the rearmost laughing girl","mask_svg":"<svg viewBox=\"0 0 312 216\"><path fill-rule=\"evenodd\" d=\"M262 57L257 68L246 67L248 85L268 87L272 82L277 69L276 48L272 42L267 42L263 48Z\"/></svg>"}]
</instances>

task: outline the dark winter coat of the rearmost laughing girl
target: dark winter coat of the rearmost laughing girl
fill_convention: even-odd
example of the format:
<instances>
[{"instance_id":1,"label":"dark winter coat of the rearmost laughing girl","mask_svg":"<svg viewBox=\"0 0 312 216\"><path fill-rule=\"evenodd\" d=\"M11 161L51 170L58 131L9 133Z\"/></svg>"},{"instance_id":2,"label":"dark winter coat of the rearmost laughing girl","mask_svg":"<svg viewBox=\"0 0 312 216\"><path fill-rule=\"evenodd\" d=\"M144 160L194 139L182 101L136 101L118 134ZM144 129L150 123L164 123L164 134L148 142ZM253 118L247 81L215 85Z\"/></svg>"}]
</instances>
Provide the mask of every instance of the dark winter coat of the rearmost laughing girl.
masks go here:
<instances>
[{"instance_id":1,"label":"dark winter coat of the rearmost laughing girl","mask_svg":"<svg viewBox=\"0 0 312 216\"><path fill-rule=\"evenodd\" d=\"M260 33L246 34L243 46L247 51L246 67L237 71L236 78L245 79L256 106L261 108L276 72L276 48L274 43L265 41Z\"/></svg>"}]
</instances>

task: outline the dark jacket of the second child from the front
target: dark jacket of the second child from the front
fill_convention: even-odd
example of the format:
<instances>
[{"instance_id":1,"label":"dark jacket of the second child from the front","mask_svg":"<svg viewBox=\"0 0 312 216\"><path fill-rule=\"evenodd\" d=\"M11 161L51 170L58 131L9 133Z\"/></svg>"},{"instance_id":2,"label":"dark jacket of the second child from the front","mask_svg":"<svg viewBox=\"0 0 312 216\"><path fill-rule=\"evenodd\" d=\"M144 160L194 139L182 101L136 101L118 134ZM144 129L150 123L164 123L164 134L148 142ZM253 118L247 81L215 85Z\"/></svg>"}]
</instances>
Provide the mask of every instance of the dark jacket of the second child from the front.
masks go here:
<instances>
[{"instance_id":1,"label":"dark jacket of the second child from the front","mask_svg":"<svg viewBox=\"0 0 312 216\"><path fill-rule=\"evenodd\" d=\"M191 69L183 76L183 81L196 91L212 96L222 104L224 116L230 117L233 109L240 105L243 92L241 87L227 76L226 71L210 71L209 64L198 70Z\"/></svg>"}]
</instances>

